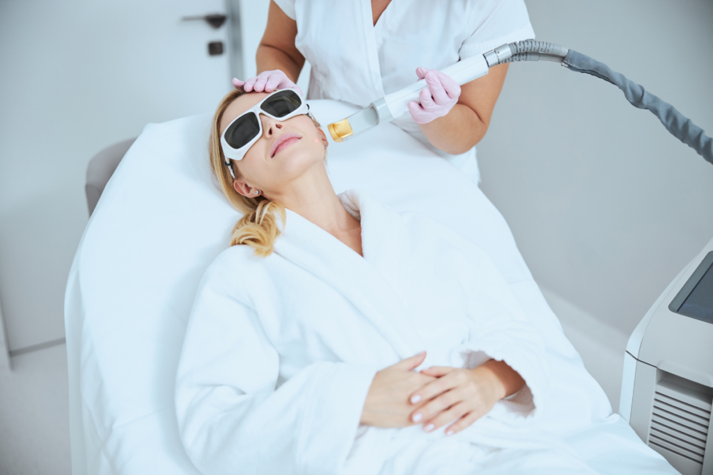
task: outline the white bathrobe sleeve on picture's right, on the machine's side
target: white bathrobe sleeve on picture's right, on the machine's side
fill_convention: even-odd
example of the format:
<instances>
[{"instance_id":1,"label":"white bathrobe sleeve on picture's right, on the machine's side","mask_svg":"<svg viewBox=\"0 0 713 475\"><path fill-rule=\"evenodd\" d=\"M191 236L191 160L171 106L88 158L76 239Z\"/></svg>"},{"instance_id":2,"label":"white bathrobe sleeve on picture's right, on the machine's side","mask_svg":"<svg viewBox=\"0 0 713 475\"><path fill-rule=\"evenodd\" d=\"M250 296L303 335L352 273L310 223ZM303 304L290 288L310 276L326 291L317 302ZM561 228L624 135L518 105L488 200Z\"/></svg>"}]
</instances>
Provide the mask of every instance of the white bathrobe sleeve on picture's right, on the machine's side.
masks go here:
<instances>
[{"instance_id":1,"label":"white bathrobe sleeve on picture's right, on the machine's side","mask_svg":"<svg viewBox=\"0 0 713 475\"><path fill-rule=\"evenodd\" d=\"M461 272L470 329L470 338L453 355L470 369L494 358L517 371L525 386L498 401L488 415L508 424L531 422L543 413L548 399L550 367L544 339L487 252L455 231L446 231L445 239L464 255L451 262Z\"/></svg>"}]
</instances>

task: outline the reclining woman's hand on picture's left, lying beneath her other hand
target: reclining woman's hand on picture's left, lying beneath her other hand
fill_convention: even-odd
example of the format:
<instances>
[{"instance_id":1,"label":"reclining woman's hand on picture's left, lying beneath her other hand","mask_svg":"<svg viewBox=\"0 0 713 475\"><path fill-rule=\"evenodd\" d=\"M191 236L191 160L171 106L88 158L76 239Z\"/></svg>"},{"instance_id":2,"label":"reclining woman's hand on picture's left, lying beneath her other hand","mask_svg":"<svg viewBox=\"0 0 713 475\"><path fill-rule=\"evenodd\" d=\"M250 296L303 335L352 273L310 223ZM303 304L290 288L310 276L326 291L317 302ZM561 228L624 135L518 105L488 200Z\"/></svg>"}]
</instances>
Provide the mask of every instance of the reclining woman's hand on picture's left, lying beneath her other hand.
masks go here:
<instances>
[{"instance_id":1,"label":"reclining woman's hand on picture's left, lying beneath her other hand","mask_svg":"<svg viewBox=\"0 0 713 475\"><path fill-rule=\"evenodd\" d=\"M417 422L410 418L411 413L428 401L411 404L409 397L420 387L436 380L436 377L412 371L425 359L424 351L376 372L359 422L385 428L416 425Z\"/></svg>"}]
</instances>

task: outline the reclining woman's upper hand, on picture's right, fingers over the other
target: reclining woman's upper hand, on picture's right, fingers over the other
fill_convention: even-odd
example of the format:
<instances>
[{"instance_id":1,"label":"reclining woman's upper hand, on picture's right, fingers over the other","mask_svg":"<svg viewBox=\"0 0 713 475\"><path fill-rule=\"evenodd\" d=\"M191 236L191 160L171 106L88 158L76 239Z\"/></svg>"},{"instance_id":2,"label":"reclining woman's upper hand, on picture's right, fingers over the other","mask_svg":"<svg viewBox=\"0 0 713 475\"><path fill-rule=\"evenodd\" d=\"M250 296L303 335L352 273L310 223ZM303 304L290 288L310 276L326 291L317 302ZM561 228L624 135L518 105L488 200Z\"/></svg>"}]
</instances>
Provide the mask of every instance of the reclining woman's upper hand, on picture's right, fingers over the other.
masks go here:
<instances>
[{"instance_id":1,"label":"reclining woman's upper hand, on picture's right, fingers over the other","mask_svg":"<svg viewBox=\"0 0 713 475\"><path fill-rule=\"evenodd\" d=\"M451 421L455 422L446 429L446 435L460 432L488 414L495 403L504 397L505 388L501 382L488 367L482 365L473 370L431 366L421 372L438 378L421 387L410 398L412 404L432 399L411 414L414 422L424 422L426 432Z\"/></svg>"}]
</instances>

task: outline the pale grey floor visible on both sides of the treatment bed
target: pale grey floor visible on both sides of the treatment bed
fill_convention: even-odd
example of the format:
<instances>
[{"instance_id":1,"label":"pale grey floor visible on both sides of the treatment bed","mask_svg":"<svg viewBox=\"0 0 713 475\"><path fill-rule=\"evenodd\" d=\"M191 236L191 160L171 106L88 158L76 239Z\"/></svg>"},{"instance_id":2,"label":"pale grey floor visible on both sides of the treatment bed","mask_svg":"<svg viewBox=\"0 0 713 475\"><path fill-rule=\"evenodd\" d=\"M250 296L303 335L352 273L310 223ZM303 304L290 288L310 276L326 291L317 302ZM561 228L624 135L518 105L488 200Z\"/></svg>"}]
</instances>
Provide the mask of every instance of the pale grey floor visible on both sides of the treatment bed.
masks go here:
<instances>
[{"instance_id":1,"label":"pale grey floor visible on both sides of the treatment bed","mask_svg":"<svg viewBox=\"0 0 713 475\"><path fill-rule=\"evenodd\" d=\"M543 293L616 412L626 335ZM12 370L0 368L0 475L71 474L67 392L65 345L13 357Z\"/></svg>"}]
</instances>

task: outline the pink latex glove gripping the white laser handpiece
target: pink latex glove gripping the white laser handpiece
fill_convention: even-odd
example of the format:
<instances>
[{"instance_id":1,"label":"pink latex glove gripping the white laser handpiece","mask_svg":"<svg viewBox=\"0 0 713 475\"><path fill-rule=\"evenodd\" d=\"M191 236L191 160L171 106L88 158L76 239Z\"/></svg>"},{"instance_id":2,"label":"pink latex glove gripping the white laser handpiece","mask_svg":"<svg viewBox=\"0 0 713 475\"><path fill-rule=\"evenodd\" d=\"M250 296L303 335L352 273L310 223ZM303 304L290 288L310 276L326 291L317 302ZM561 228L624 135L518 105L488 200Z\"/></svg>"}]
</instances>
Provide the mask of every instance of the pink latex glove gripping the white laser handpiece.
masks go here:
<instances>
[{"instance_id":1,"label":"pink latex glove gripping the white laser handpiece","mask_svg":"<svg viewBox=\"0 0 713 475\"><path fill-rule=\"evenodd\" d=\"M419 79L426 79L428 88L421 89L420 104L409 102L411 117L419 124L426 124L448 114L461 96L461 86L450 76L437 69L416 68Z\"/></svg>"}]
</instances>

